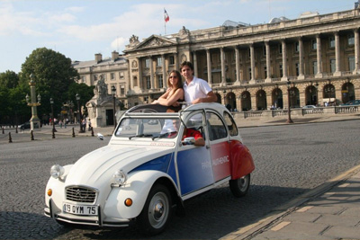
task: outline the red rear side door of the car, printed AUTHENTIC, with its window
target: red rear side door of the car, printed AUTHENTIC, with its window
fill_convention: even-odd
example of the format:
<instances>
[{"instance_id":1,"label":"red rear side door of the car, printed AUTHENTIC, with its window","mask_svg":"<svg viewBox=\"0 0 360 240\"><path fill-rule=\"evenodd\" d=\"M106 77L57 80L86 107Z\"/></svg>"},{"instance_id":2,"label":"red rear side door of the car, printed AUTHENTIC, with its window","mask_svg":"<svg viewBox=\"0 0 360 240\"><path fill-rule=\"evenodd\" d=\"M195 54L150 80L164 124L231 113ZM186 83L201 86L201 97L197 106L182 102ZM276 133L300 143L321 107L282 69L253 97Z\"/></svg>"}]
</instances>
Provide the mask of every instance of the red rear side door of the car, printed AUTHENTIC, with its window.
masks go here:
<instances>
[{"instance_id":1,"label":"red rear side door of the car, printed AUTHENTIC, with its window","mask_svg":"<svg viewBox=\"0 0 360 240\"><path fill-rule=\"evenodd\" d=\"M214 182L230 175L229 133L224 121L214 111L206 112Z\"/></svg>"}]
</instances>

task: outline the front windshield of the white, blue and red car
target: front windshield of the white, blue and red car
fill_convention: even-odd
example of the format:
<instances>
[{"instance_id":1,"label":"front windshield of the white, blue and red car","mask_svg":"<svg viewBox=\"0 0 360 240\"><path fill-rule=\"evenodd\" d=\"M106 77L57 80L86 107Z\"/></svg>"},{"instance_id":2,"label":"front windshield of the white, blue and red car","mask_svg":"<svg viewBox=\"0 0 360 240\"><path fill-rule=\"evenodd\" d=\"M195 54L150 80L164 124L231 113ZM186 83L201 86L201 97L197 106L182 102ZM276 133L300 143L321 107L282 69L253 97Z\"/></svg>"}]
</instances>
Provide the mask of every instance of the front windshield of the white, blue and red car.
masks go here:
<instances>
[{"instance_id":1,"label":"front windshield of the white, blue and red car","mask_svg":"<svg viewBox=\"0 0 360 240\"><path fill-rule=\"evenodd\" d=\"M180 120L177 118L130 117L121 120L115 136L120 138L175 138Z\"/></svg>"}]
</instances>

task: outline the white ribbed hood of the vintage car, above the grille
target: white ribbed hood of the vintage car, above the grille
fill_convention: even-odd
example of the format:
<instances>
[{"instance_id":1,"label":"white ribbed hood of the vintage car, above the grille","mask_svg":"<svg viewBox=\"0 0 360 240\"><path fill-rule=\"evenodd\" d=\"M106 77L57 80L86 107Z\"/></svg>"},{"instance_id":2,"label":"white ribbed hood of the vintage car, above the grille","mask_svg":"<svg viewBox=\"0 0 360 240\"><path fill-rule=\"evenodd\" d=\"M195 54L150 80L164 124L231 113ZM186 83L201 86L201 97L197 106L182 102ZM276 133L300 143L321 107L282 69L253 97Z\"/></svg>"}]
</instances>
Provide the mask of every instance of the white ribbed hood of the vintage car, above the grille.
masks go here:
<instances>
[{"instance_id":1,"label":"white ribbed hood of the vintage car, above the grille","mask_svg":"<svg viewBox=\"0 0 360 240\"><path fill-rule=\"evenodd\" d=\"M100 188L112 183L112 174L117 170L130 170L149 160L170 154L174 149L161 147L121 147L108 145L81 157L67 173L67 185L88 185Z\"/></svg>"}]
</instances>

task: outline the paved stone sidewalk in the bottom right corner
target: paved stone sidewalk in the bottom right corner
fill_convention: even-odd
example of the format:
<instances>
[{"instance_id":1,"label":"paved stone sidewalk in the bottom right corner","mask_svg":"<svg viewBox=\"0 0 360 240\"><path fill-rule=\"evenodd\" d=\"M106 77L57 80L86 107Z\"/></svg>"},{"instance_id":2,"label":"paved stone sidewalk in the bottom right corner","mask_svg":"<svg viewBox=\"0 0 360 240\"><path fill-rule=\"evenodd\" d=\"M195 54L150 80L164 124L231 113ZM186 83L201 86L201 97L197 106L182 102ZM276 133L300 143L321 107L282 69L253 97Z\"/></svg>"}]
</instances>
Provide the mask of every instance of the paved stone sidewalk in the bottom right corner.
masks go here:
<instances>
[{"instance_id":1,"label":"paved stone sidewalk in the bottom right corner","mask_svg":"<svg viewBox=\"0 0 360 240\"><path fill-rule=\"evenodd\" d=\"M360 165L221 239L360 239Z\"/></svg>"}]
</instances>

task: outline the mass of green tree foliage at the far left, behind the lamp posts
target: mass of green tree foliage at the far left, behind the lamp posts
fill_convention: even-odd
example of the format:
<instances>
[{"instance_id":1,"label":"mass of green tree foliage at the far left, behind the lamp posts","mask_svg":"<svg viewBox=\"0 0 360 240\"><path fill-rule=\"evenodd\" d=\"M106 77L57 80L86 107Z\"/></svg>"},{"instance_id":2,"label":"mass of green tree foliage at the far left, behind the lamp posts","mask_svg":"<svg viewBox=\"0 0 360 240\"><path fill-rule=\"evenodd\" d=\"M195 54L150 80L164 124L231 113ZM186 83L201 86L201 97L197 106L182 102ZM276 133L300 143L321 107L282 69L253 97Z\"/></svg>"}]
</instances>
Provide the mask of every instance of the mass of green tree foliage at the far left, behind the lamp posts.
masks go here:
<instances>
[{"instance_id":1,"label":"mass of green tree foliage at the far left, behind the lamp posts","mask_svg":"<svg viewBox=\"0 0 360 240\"><path fill-rule=\"evenodd\" d=\"M54 100L56 115L67 101L76 105L76 93L80 94L80 104L85 105L94 95L94 86L76 84L77 71L71 66L71 59L51 49L41 48L32 51L16 75L12 71L0 73L0 124L20 124L31 119L31 108L25 101L30 95L31 76L35 81L36 94L41 96L38 117L51 112L49 99Z\"/></svg>"}]
</instances>

